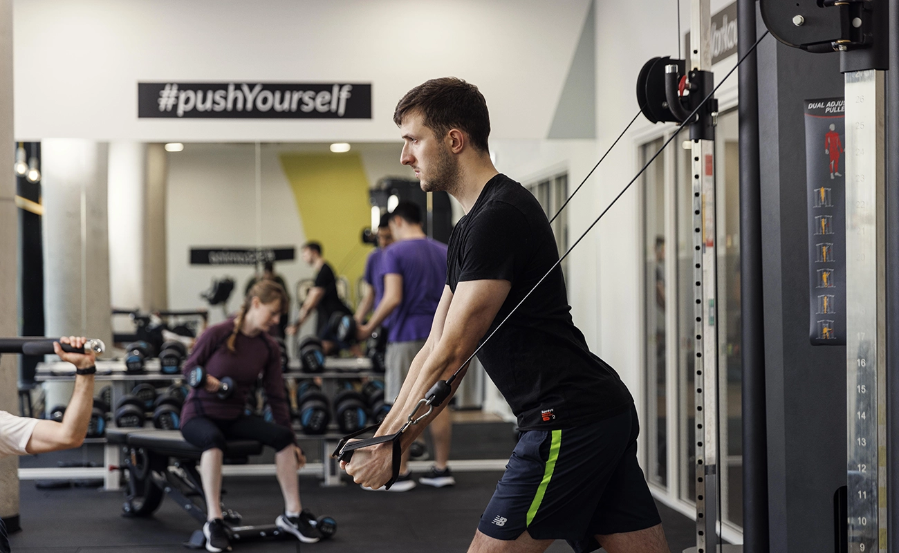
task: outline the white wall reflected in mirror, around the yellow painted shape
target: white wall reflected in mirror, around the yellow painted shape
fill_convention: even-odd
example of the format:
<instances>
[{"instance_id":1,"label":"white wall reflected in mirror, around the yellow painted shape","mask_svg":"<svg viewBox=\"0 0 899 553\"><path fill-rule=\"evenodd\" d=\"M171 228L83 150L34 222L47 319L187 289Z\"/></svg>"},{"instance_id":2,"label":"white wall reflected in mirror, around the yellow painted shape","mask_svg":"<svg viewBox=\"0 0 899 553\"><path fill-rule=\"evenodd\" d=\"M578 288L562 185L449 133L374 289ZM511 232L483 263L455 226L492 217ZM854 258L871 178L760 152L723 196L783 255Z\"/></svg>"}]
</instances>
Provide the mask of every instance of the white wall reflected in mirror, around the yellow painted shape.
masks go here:
<instances>
[{"instance_id":1,"label":"white wall reflected in mirror, around the yellow painted shape","mask_svg":"<svg viewBox=\"0 0 899 553\"><path fill-rule=\"evenodd\" d=\"M412 177L399 164L401 145L358 144L369 183L396 175ZM297 201L281 170L279 154L284 152L325 153L326 144L266 144L261 147L262 236L265 246L299 247L306 241ZM169 308L208 307L200 292L209 289L213 278L230 276L236 281L230 309L238 307L246 282L253 275L250 266L191 265L190 248L204 246L255 247L256 178L254 144L186 144L182 152L168 155L169 180L166 202L166 241ZM275 269L288 282L291 299L301 279L312 278L311 269L299 258L276 263ZM210 321L221 320L215 308Z\"/></svg>"}]
</instances>

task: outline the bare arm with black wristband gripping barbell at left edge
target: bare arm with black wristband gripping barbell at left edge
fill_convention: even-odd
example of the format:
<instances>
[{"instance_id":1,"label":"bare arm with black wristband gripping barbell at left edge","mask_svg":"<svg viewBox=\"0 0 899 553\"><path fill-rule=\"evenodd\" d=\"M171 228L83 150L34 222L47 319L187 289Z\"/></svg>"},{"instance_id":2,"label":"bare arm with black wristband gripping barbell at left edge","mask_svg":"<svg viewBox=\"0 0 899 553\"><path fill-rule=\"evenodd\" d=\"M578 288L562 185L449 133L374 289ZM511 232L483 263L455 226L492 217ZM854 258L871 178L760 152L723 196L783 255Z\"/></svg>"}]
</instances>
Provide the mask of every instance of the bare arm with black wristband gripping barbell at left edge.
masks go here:
<instances>
[{"instance_id":1,"label":"bare arm with black wristband gripping barbell at left edge","mask_svg":"<svg viewBox=\"0 0 899 553\"><path fill-rule=\"evenodd\" d=\"M84 336L69 336L60 338L59 342L68 343L74 347L83 347L87 339ZM90 350L85 353L63 352L59 343L53 343L53 350L61 360L72 363L76 369L93 367L95 357ZM62 422L38 421L31 432L31 439L25 446L25 450L34 454L69 450L81 446L85 442L87 425L91 422L92 411L93 374L76 375L75 391L72 392L72 399L68 402Z\"/></svg>"}]
</instances>

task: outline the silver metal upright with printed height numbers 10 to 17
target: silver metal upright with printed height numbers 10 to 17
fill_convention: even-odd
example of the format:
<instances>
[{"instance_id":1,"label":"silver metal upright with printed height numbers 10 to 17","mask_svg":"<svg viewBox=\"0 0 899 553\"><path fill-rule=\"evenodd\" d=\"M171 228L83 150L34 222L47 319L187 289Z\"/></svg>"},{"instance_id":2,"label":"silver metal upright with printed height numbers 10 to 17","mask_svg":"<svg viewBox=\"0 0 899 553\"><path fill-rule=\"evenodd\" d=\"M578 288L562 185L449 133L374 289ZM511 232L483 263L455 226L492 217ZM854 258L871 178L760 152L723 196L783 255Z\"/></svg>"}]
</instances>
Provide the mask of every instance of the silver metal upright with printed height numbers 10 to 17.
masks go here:
<instances>
[{"instance_id":1,"label":"silver metal upright with printed height numbers 10 to 17","mask_svg":"<svg viewBox=\"0 0 899 553\"><path fill-rule=\"evenodd\" d=\"M846 74L846 376L850 553L886 553L884 76Z\"/></svg>"}]
</instances>

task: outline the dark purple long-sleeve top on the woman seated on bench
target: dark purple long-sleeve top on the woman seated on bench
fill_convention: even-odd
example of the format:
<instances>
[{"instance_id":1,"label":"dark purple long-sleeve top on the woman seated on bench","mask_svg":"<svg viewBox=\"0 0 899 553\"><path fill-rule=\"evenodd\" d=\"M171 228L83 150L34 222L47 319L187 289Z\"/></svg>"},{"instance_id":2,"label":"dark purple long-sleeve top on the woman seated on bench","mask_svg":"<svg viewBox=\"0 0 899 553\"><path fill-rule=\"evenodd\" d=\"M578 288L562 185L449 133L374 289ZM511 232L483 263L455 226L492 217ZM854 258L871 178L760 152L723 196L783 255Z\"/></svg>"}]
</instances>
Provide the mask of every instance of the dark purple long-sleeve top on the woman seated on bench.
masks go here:
<instances>
[{"instance_id":1,"label":"dark purple long-sleeve top on the woman seated on bench","mask_svg":"<svg viewBox=\"0 0 899 553\"><path fill-rule=\"evenodd\" d=\"M193 352L187 361L184 361L182 371L186 377L191 369L200 366L206 369L207 374L217 379L231 377L235 381L234 392L230 397L220 399L216 394L210 394L203 388L191 389L182 407L182 425L195 416L234 420L243 415L246 398L262 375L265 394L269 398L275 423L292 431L278 343L264 332L252 338L237 333L235 351L231 352L227 348L227 339L232 330L234 330L233 318L209 326L203 334L200 334L193 346Z\"/></svg>"}]
</instances>

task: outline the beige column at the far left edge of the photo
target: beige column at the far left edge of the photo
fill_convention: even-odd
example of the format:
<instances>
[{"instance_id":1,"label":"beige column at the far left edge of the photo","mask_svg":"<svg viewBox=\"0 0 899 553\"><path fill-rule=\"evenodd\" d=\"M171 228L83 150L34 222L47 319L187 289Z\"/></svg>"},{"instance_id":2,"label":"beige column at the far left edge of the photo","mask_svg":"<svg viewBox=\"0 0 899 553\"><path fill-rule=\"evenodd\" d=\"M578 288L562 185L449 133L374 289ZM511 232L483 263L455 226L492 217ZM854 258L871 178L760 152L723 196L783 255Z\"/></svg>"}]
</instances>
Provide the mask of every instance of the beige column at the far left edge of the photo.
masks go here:
<instances>
[{"instance_id":1,"label":"beige column at the far left edge of the photo","mask_svg":"<svg viewBox=\"0 0 899 553\"><path fill-rule=\"evenodd\" d=\"M13 3L0 0L0 144L13 147ZM9 159L5 156L3 159ZM5 164L8 166L9 164ZM4 164L0 164L3 167ZM18 214L13 197L13 172L0 169L0 336L16 335L16 272L18 272ZM0 409L18 415L18 362L0 355ZM19 459L0 459L0 517L18 526Z\"/></svg>"}]
</instances>

